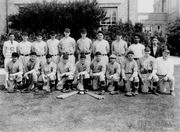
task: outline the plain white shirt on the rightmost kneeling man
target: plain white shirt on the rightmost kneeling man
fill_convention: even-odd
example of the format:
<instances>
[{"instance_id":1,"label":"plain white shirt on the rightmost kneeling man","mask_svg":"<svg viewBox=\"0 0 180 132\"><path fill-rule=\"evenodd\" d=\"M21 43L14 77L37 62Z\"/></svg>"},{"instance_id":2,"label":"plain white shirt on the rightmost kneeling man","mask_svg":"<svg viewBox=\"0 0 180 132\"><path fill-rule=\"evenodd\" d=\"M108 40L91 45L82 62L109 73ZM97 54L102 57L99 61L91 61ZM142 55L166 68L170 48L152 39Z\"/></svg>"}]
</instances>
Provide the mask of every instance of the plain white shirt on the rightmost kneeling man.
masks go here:
<instances>
[{"instance_id":1,"label":"plain white shirt on the rightmost kneeling man","mask_svg":"<svg viewBox=\"0 0 180 132\"><path fill-rule=\"evenodd\" d=\"M168 77L173 75L174 62L170 58L164 60L163 57L158 57L156 59L156 64L158 75L167 75Z\"/></svg>"}]
</instances>

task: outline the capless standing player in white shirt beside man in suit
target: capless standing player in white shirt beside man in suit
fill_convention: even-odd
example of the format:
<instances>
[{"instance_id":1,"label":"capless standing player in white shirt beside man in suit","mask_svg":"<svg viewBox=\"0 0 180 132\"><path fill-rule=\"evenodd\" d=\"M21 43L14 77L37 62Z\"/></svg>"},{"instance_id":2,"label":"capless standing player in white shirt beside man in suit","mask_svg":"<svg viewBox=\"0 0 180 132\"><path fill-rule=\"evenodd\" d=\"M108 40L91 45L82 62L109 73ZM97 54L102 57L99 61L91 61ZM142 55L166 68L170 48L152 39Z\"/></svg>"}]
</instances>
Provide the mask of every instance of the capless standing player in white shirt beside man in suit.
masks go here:
<instances>
[{"instance_id":1,"label":"capless standing player in white shirt beside man in suit","mask_svg":"<svg viewBox=\"0 0 180 132\"><path fill-rule=\"evenodd\" d=\"M134 52L134 60L139 60L139 58L144 56L145 46L139 43L140 38L139 35L134 36L134 44L131 44L128 47L128 51Z\"/></svg>"}]
</instances>

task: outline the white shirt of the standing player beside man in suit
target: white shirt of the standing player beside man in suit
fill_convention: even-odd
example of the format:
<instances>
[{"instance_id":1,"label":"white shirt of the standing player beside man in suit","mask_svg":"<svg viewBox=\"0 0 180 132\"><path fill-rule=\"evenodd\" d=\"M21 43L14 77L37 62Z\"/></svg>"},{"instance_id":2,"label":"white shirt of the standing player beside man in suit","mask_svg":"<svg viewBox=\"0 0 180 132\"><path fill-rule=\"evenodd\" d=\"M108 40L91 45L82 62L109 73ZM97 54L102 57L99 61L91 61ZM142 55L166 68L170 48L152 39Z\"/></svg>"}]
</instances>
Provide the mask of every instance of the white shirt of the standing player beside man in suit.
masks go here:
<instances>
[{"instance_id":1,"label":"white shirt of the standing player beside man in suit","mask_svg":"<svg viewBox=\"0 0 180 132\"><path fill-rule=\"evenodd\" d=\"M138 44L131 44L129 46L129 50L134 52L134 58L141 58L144 56L144 49L145 46L138 43Z\"/></svg>"}]
</instances>

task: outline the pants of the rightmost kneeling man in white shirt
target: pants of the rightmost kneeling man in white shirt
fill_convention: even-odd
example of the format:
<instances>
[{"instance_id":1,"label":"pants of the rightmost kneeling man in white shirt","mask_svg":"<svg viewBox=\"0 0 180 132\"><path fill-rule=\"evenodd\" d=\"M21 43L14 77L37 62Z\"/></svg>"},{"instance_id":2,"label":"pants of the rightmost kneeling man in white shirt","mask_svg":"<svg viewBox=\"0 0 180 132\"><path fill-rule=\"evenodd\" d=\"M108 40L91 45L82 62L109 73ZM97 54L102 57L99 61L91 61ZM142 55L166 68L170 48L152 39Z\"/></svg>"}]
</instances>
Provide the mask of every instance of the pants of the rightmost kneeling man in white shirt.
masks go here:
<instances>
[{"instance_id":1,"label":"pants of the rightmost kneeling man in white shirt","mask_svg":"<svg viewBox=\"0 0 180 132\"><path fill-rule=\"evenodd\" d=\"M174 91L175 78L173 76L168 77L167 81L163 80L165 76L158 75L158 77L159 77L158 86L160 92L162 93L166 92L168 87L170 90Z\"/></svg>"}]
</instances>

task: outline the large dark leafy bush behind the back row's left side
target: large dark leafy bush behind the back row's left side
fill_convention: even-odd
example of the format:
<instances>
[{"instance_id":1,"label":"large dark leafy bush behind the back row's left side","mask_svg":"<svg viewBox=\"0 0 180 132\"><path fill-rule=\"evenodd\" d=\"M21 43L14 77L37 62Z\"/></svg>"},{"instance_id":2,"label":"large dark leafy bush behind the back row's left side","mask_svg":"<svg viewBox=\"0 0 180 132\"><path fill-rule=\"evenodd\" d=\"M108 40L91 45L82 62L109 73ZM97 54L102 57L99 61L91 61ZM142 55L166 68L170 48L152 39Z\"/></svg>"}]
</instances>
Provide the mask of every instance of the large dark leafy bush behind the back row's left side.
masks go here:
<instances>
[{"instance_id":1,"label":"large dark leafy bush behind the back row's left side","mask_svg":"<svg viewBox=\"0 0 180 132\"><path fill-rule=\"evenodd\" d=\"M27 4L18 14L8 17L9 27L30 34L37 31L49 33L51 30L62 33L64 28L71 29L71 36L79 37L79 30L86 28L91 37L100 27L106 12L96 0L74 1L67 3L43 2Z\"/></svg>"}]
</instances>

